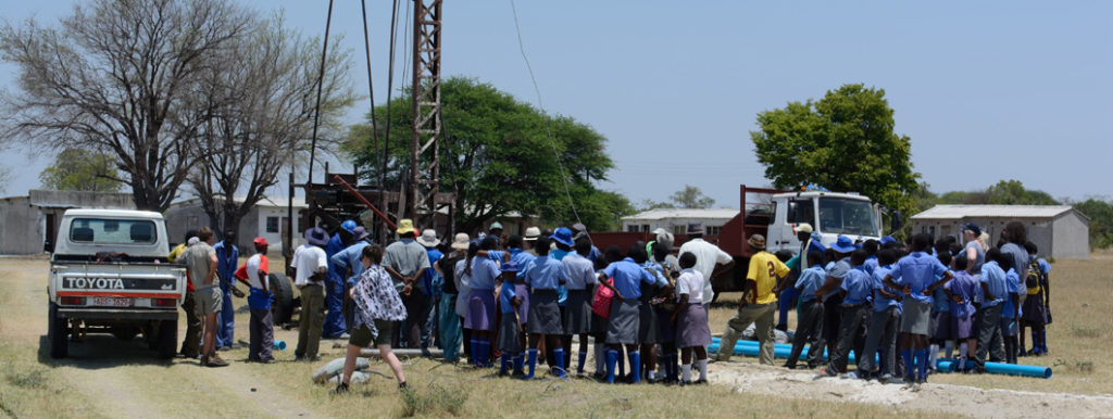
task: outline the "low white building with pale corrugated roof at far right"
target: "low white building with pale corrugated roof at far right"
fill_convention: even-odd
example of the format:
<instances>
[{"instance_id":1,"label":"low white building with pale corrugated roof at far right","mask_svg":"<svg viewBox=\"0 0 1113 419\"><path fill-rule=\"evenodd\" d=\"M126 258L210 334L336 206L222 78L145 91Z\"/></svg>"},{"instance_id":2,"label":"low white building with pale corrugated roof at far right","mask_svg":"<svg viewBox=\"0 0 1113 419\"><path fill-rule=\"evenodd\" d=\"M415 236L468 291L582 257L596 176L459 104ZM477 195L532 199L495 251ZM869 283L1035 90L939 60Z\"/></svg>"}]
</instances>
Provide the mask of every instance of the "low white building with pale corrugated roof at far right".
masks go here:
<instances>
[{"instance_id":1,"label":"low white building with pale corrugated roof at far right","mask_svg":"<svg viewBox=\"0 0 1113 419\"><path fill-rule=\"evenodd\" d=\"M954 236L962 241L963 227L976 222L989 235L989 246L995 246L1005 225L1014 220L1024 223L1028 241L1040 248L1041 257L1090 257L1090 219L1071 206L935 206L912 216L912 228L913 232Z\"/></svg>"}]
</instances>

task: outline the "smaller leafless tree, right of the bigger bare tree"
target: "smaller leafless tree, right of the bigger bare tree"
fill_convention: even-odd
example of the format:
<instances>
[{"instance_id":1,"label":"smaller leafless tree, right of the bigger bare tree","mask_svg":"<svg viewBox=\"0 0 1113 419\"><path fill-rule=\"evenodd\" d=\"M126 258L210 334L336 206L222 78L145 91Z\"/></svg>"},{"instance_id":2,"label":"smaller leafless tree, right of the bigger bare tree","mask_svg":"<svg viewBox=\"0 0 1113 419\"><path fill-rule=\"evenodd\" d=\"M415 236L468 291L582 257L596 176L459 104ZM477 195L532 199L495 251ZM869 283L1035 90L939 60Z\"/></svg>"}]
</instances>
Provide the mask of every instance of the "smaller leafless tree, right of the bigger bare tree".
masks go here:
<instances>
[{"instance_id":1,"label":"smaller leafless tree, right of the bigger bare tree","mask_svg":"<svg viewBox=\"0 0 1113 419\"><path fill-rule=\"evenodd\" d=\"M336 38L329 51L341 51ZM321 67L319 40L275 17L223 51L196 84L197 151L189 182L218 231L239 221L309 148ZM317 147L334 149L339 118L355 101L351 54L329 54L322 88ZM243 192L242 196L240 192ZM238 199L237 199L237 196Z\"/></svg>"}]
</instances>

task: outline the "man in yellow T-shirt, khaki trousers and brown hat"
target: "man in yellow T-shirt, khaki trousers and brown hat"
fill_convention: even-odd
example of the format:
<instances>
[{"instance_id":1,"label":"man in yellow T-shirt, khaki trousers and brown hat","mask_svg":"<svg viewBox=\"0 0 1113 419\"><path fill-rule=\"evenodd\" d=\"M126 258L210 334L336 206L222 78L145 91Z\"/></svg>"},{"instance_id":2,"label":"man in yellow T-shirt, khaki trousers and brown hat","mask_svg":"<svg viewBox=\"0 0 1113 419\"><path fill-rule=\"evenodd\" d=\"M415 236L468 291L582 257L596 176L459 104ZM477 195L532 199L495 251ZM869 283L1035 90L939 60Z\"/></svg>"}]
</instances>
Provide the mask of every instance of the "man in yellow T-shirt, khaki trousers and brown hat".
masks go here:
<instances>
[{"instance_id":1,"label":"man in yellow T-shirt, khaki trousers and brown hat","mask_svg":"<svg viewBox=\"0 0 1113 419\"><path fill-rule=\"evenodd\" d=\"M757 337L761 345L760 361L772 365L774 352L774 315L777 312L777 295L784 288L781 281L788 277L790 269L772 253L765 251L766 240L761 235L754 235L747 241L756 250L750 258L749 273L746 275L746 286L742 299L738 303L738 312L727 321L727 329L719 342L719 353L712 361L728 361L735 351L738 336L750 323L755 323Z\"/></svg>"}]
</instances>

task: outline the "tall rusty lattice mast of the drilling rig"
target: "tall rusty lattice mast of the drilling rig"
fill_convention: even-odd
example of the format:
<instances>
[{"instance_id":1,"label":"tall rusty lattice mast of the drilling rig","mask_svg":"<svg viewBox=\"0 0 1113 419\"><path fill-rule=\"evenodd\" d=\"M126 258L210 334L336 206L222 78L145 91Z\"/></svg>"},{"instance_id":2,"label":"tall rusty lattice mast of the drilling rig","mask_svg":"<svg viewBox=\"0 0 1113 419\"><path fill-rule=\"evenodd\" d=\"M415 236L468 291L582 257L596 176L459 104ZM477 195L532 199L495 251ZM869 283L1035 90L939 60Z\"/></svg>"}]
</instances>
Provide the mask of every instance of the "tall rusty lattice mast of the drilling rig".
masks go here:
<instances>
[{"instance_id":1,"label":"tall rusty lattice mast of the drilling rig","mask_svg":"<svg viewBox=\"0 0 1113 419\"><path fill-rule=\"evenodd\" d=\"M413 142L406 215L423 228L435 228L441 139L441 3L414 0ZM426 161L422 164L422 157ZM426 210L422 216L418 211Z\"/></svg>"}]
</instances>

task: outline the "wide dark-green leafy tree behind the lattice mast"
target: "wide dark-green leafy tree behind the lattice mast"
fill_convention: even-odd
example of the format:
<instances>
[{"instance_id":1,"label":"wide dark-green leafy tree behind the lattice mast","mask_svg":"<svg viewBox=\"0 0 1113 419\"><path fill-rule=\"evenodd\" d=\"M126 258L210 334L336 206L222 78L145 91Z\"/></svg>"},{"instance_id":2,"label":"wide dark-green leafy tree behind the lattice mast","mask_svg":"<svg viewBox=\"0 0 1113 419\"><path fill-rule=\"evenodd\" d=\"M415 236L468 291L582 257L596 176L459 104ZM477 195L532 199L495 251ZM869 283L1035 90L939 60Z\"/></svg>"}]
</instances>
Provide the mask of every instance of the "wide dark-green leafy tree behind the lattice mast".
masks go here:
<instances>
[{"instance_id":1,"label":"wide dark-green leafy tree behind the lattice mast","mask_svg":"<svg viewBox=\"0 0 1113 419\"><path fill-rule=\"evenodd\" d=\"M594 181L607 179L613 163L604 152L607 139L591 127L543 114L474 79L450 78L441 89L441 190L456 196L457 230L475 231L510 211L538 215L553 225L574 222L579 216L591 230L610 230L619 217L632 212L624 197L594 187ZM375 113L381 141L390 122L383 174L386 189L396 190L410 164L408 93L393 100L390 113L385 103ZM361 176L375 183L381 148L370 123L354 127L353 139L344 147Z\"/></svg>"}]
</instances>

